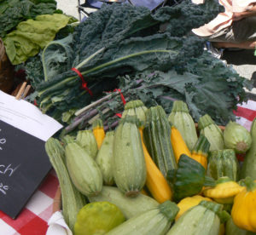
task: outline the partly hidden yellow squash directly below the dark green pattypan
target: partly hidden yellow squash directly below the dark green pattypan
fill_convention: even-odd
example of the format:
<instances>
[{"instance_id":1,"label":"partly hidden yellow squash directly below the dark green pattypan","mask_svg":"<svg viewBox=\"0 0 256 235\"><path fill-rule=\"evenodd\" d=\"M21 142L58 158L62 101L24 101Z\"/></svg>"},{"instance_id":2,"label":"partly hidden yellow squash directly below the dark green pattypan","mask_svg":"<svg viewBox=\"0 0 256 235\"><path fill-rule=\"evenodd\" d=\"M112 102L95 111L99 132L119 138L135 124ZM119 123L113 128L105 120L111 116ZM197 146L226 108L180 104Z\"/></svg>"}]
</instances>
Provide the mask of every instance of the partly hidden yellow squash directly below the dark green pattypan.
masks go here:
<instances>
[{"instance_id":1,"label":"partly hidden yellow squash directly below the dark green pattypan","mask_svg":"<svg viewBox=\"0 0 256 235\"><path fill-rule=\"evenodd\" d=\"M178 220L178 218L183 215L184 212L186 212L191 207L194 207L201 203L201 201L212 201L211 198L204 198L200 195L195 195L193 197L187 197L183 198L179 203L177 203L177 207L179 208L179 211L176 215L175 221Z\"/></svg>"}]
</instances>

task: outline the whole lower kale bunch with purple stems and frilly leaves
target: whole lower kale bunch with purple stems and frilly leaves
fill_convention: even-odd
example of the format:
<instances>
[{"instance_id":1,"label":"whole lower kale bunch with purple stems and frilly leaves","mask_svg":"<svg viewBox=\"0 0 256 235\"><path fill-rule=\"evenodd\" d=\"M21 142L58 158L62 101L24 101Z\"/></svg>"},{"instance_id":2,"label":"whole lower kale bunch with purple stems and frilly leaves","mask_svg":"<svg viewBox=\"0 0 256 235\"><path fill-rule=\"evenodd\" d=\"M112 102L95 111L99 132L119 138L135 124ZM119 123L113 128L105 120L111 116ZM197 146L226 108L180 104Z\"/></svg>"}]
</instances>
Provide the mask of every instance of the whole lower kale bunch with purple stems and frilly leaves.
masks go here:
<instances>
[{"instance_id":1,"label":"whole lower kale bunch with purple stems and frilly leaves","mask_svg":"<svg viewBox=\"0 0 256 235\"><path fill-rule=\"evenodd\" d=\"M119 87L126 101L142 100L148 107L160 105L170 113L173 101L183 100L196 122L208 113L216 123L224 125L235 119L232 110L240 100L246 100L243 87L251 89L252 85L221 60L204 52L200 58L187 62L183 74L174 69L151 74L143 72L136 77L119 77ZM99 117L105 123L105 129L113 129L119 122L115 114L123 111L119 92L112 92L77 111L65 133L90 128Z\"/></svg>"}]
</instances>

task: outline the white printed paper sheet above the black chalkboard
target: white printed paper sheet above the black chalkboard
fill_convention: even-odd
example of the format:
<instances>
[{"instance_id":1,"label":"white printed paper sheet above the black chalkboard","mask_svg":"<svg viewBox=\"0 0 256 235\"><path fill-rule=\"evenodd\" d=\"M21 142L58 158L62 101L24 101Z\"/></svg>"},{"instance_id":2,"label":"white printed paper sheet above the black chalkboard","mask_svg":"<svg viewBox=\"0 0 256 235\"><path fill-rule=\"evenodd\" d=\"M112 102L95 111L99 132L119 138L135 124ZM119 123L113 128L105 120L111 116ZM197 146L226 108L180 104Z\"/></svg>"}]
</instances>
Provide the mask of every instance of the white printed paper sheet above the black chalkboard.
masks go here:
<instances>
[{"instance_id":1,"label":"white printed paper sheet above the black chalkboard","mask_svg":"<svg viewBox=\"0 0 256 235\"><path fill-rule=\"evenodd\" d=\"M1 90L0 120L44 141L62 128L61 123L43 114L37 106L26 100L16 100L14 96Z\"/></svg>"}]
</instances>

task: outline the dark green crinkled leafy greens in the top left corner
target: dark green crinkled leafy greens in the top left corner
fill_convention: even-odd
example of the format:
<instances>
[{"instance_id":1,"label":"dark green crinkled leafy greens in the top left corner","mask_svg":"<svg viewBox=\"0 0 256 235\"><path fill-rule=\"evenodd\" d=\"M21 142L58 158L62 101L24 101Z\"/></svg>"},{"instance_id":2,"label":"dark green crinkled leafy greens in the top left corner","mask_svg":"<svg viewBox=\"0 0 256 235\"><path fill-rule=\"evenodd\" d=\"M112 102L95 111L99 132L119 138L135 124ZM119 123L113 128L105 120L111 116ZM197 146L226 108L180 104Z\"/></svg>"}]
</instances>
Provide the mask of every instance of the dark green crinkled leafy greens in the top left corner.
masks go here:
<instances>
[{"instance_id":1,"label":"dark green crinkled leafy greens in the top left corner","mask_svg":"<svg viewBox=\"0 0 256 235\"><path fill-rule=\"evenodd\" d=\"M15 29L21 21L34 19L39 14L61 13L55 0L2 0L0 1L0 37Z\"/></svg>"}]
</instances>

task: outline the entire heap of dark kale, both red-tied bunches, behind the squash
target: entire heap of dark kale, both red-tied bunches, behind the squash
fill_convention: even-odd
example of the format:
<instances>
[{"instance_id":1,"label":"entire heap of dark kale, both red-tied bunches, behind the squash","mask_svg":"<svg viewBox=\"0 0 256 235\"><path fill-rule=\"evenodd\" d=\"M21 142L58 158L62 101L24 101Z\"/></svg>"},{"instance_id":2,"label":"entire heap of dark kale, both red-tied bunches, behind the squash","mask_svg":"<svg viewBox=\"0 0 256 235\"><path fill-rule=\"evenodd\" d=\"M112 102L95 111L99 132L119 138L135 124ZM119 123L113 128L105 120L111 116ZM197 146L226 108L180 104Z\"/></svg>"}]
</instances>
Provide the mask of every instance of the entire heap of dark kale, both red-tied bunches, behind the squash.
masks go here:
<instances>
[{"instance_id":1,"label":"entire heap of dark kale, both red-tied bunches, behind the squash","mask_svg":"<svg viewBox=\"0 0 256 235\"><path fill-rule=\"evenodd\" d=\"M215 0L201 5L186 0L155 14L131 5L105 5L75 28L72 42L63 39L45 49L42 60L47 81L34 80L37 92L32 99L38 95L43 112L70 122L69 110L119 88L125 100L143 100L148 107L160 105L166 113L171 112L173 100L183 100L196 122L205 113L218 124L234 120L232 110L247 99L243 88L251 89L250 83L204 52L204 40L189 35L193 27L212 20L220 10ZM166 32L160 32L161 24L167 24ZM80 78L69 71L69 61L84 74L93 97L80 89ZM30 66L27 73L32 77L38 68ZM95 115L113 127L118 122L114 114L122 112L123 105L118 92L106 97L75 117L66 131L89 126Z\"/></svg>"}]
</instances>

